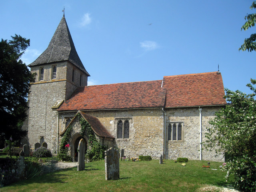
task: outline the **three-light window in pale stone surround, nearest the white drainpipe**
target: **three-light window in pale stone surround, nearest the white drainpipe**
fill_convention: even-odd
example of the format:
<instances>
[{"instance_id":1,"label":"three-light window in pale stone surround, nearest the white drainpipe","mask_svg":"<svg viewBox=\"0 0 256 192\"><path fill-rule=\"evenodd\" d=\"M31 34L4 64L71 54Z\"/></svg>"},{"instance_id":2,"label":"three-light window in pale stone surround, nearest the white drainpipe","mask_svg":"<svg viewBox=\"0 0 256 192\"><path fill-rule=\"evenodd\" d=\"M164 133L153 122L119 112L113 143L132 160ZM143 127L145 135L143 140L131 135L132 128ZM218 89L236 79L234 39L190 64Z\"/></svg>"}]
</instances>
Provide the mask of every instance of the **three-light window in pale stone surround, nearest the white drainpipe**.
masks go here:
<instances>
[{"instance_id":1,"label":"three-light window in pale stone surround, nearest the white drainpipe","mask_svg":"<svg viewBox=\"0 0 256 192\"><path fill-rule=\"evenodd\" d=\"M170 122L168 123L168 140L169 141L182 141L183 122Z\"/></svg>"}]
</instances>

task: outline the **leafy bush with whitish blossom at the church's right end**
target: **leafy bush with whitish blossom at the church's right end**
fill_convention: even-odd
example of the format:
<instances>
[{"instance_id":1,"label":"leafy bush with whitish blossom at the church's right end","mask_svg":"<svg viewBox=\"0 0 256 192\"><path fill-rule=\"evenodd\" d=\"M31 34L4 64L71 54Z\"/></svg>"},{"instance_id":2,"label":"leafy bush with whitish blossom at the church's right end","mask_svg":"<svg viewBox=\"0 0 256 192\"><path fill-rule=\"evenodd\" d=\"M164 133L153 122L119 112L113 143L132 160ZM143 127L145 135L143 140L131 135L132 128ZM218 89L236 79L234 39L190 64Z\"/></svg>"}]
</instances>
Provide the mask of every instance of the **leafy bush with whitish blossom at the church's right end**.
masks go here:
<instances>
[{"instance_id":1,"label":"leafy bush with whitish blossom at the church's right end","mask_svg":"<svg viewBox=\"0 0 256 192\"><path fill-rule=\"evenodd\" d=\"M226 108L216 112L206 133L206 148L225 152L228 174L233 173L235 187L256 190L256 80L247 84L253 93L226 89ZM228 175L227 175L228 176Z\"/></svg>"}]
</instances>

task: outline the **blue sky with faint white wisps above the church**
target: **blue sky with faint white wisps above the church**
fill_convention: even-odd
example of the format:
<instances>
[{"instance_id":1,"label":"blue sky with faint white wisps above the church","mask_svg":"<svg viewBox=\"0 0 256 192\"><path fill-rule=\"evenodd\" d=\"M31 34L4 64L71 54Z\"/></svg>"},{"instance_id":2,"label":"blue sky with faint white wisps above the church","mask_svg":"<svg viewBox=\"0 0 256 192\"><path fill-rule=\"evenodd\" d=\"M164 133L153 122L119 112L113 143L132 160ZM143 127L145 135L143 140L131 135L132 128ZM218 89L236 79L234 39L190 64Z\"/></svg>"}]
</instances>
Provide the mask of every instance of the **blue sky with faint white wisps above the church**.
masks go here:
<instances>
[{"instance_id":1,"label":"blue sky with faint white wisps above the church","mask_svg":"<svg viewBox=\"0 0 256 192\"><path fill-rule=\"evenodd\" d=\"M162 80L218 71L224 87L251 93L256 52L238 48L252 0L8 0L0 1L0 38L30 39L22 60L47 48L63 16L90 85Z\"/></svg>"}]
</instances>

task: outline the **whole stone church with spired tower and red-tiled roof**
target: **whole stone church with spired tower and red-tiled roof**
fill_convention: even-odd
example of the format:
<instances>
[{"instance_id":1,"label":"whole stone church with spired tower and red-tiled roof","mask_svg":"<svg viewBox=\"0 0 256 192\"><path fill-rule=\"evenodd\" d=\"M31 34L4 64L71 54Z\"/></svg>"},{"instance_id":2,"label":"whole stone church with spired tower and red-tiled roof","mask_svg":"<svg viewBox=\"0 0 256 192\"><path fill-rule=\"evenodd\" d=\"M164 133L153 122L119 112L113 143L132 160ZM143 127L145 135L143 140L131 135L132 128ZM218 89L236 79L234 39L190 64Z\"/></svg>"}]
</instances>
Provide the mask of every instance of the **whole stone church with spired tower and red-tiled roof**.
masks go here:
<instances>
[{"instance_id":1,"label":"whole stone church with spired tower and red-tiled roof","mask_svg":"<svg viewBox=\"0 0 256 192\"><path fill-rule=\"evenodd\" d=\"M208 122L226 105L220 72L164 76L161 80L87 86L90 74L80 60L63 16L48 48L31 64L36 81L28 96L28 131L22 144L58 153L72 127L69 153L76 161L80 114L107 148L126 157L224 161L202 150Z\"/></svg>"}]
</instances>

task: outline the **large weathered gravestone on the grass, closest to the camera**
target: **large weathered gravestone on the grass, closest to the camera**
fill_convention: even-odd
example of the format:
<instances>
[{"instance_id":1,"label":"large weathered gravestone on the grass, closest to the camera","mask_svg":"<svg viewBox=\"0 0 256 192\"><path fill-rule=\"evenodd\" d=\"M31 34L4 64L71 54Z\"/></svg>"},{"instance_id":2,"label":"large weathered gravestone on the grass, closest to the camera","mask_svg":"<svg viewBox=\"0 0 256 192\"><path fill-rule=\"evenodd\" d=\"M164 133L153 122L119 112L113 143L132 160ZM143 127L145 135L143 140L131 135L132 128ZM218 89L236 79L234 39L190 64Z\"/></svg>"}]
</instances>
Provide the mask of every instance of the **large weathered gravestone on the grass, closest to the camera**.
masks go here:
<instances>
[{"instance_id":1,"label":"large weathered gravestone on the grass, closest to the camera","mask_svg":"<svg viewBox=\"0 0 256 192\"><path fill-rule=\"evenodd\" d=\"M110 148L105 151L105 180L117 180L119 178L119 152Z\"/></svg>"}]
</instances>

